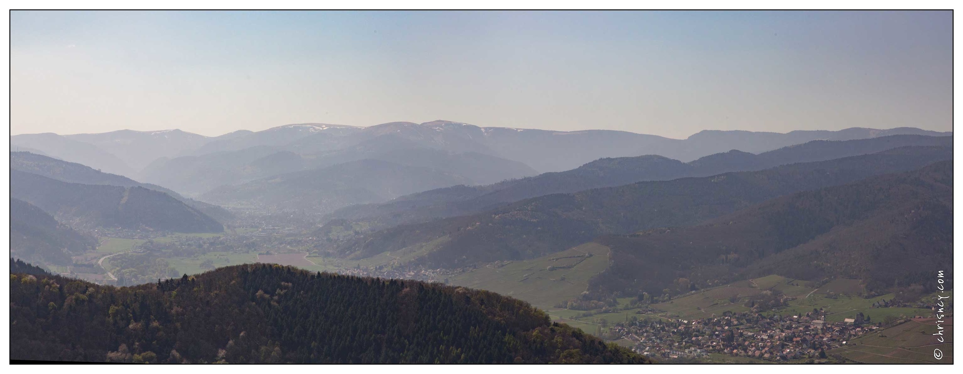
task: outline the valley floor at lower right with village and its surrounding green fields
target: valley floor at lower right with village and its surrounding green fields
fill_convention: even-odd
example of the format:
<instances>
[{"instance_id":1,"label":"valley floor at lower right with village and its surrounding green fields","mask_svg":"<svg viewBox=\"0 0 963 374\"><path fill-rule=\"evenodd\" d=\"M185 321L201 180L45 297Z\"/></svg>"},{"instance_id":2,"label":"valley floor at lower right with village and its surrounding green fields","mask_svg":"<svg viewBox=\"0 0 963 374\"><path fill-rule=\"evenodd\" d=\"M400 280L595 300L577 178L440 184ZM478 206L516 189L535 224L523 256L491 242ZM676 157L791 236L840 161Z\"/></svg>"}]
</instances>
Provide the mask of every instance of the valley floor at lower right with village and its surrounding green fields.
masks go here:
<instances>
[{"instance_id":1,"label":"valley floor at lower right with village and its surrounding green fields","mask_svg":"<svg viewBox=\"0 0 963 374\"><path fill-rule=\"evenodd\" d=\"M767 289L743 297L753 294L741 287L749 285ZM932 348L941 345L933 334L951 329L951 317L937 326L936 297L913 293L919 289L873 296L856 280L797 285L769 276L691 292L625 314L596 334L665 362L912 363L933 362ZM733 296L734 288L742 294ZM770 303L753 302L772 292L778 297ZM951 315L952 305L944 312Z\"/></svg>"}]
</instances>

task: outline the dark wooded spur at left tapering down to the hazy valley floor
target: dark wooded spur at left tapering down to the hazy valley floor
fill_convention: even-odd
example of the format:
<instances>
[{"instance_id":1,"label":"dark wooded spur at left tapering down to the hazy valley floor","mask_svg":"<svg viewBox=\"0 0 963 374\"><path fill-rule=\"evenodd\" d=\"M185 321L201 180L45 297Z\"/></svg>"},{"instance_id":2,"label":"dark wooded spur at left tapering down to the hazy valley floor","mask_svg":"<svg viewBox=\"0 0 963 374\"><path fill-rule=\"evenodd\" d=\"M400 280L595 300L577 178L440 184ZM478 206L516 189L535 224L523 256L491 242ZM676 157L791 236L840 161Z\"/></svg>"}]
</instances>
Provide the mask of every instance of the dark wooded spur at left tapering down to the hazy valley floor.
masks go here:
<instances>
[{"instance_id":1,"label":"dark wooded spur at left tapering down to the hazy valley floor","mask_svg":"<svg viewBox=\"0 0 963 374\"><path fill-rule=\"evenodd\" d=\"M11 170L10 180L13 198L33 204L78 229L223 231L223 225L214 218L153 189L65 183L19 170Z\"/></svg>"}]
</instances>

